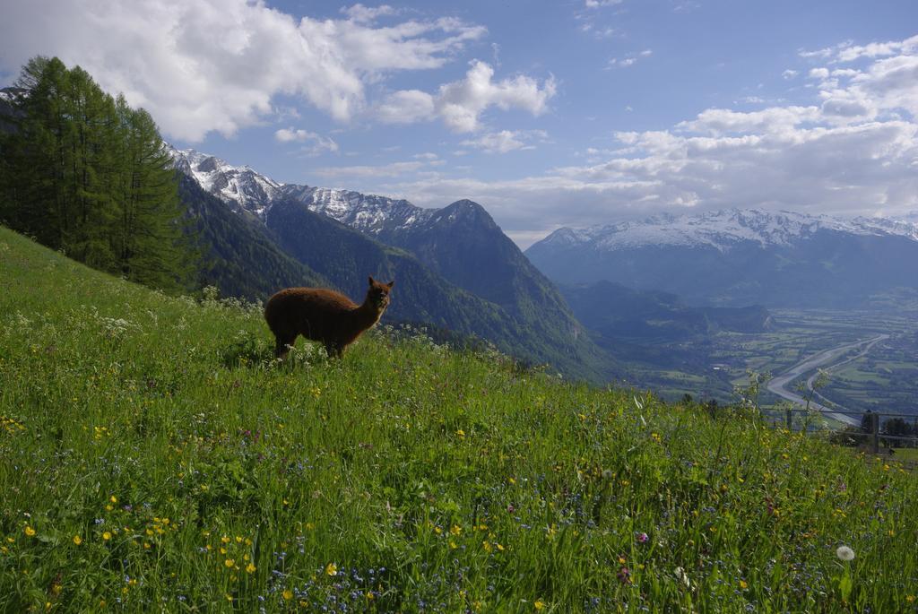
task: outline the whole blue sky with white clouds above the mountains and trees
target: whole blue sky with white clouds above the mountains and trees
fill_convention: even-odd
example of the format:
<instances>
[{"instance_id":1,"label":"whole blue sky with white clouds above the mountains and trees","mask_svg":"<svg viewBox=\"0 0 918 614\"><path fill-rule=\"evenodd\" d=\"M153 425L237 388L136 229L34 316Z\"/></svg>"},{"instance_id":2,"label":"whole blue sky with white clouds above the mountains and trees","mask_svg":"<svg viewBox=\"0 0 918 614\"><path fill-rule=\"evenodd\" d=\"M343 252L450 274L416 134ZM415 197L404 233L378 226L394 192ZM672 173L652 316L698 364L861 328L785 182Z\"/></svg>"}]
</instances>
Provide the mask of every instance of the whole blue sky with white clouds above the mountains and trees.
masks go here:
<instances>
[{"instance_id":1,"label":"whole blue sky with white clouds above the mountains and trees","mask_svg":"<svg viewBox=\"0 0 918 614\"><path fill-rule=\"evenodd\" d=\"M37 54L278 181L561 226L918 212L914 0L12 0Z\"/></svg>"}]
</instances>

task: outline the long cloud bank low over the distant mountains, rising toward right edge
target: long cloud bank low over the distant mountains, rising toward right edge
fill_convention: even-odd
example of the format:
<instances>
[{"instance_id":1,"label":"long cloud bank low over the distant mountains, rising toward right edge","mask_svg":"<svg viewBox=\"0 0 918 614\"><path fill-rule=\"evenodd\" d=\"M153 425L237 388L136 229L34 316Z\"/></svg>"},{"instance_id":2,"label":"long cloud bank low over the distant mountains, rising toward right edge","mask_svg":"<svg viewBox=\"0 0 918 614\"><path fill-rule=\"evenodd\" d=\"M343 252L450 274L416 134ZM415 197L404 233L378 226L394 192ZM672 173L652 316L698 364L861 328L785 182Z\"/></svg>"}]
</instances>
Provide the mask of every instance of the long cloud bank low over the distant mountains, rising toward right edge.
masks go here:
<instances>
[{"instance_id":1,"label":"long cloud bank low over the distant mountains, rising toward right edge","mask_svg":"<svg viewBox=\"0 0 918 614\"><path fill-rule=\"evenodd\" d=\"M440 177L385 189L430 207L477 200L523 246L560 226L686 208L907 215L918 209L918 49L906 42L888 48L894 55L864 45L874 56L858 51L868 64L857 70L817 68L806 104L705 109L669 129L617 133L586 150L585 164L521 179ZM848 48L824 59L839 63Z\"/></svg>"}]
</instances>

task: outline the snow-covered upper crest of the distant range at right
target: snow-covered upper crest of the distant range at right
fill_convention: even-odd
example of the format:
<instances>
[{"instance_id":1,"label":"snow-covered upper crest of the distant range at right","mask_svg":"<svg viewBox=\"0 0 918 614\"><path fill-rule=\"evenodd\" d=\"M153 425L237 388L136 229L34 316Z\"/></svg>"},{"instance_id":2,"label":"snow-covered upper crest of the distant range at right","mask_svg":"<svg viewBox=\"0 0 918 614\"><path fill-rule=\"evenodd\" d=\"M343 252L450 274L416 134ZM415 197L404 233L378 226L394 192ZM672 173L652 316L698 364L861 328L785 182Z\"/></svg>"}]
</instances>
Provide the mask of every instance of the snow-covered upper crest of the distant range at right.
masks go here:
<instances>
[{"instance_id":1,"label":"snow-covered upper crest of the distant range at right","mask_svg":"<svg viewBox=\"0 0 918 614\"><path fill-rule=\"evenodd\" d=\"M701 215L661 215L587 229L558 229L540 241L542 247L589 246L596 251L645 246L711 247L730 251L751 242L762 248L789 246L821 230L863 236L901 236L918 240L918 224L888 218L832 218L789 211L728 209ZM540 248L541 249L541 248ZM538 251L538 250L537 250Z\"/></svg>"}]
</instances>

